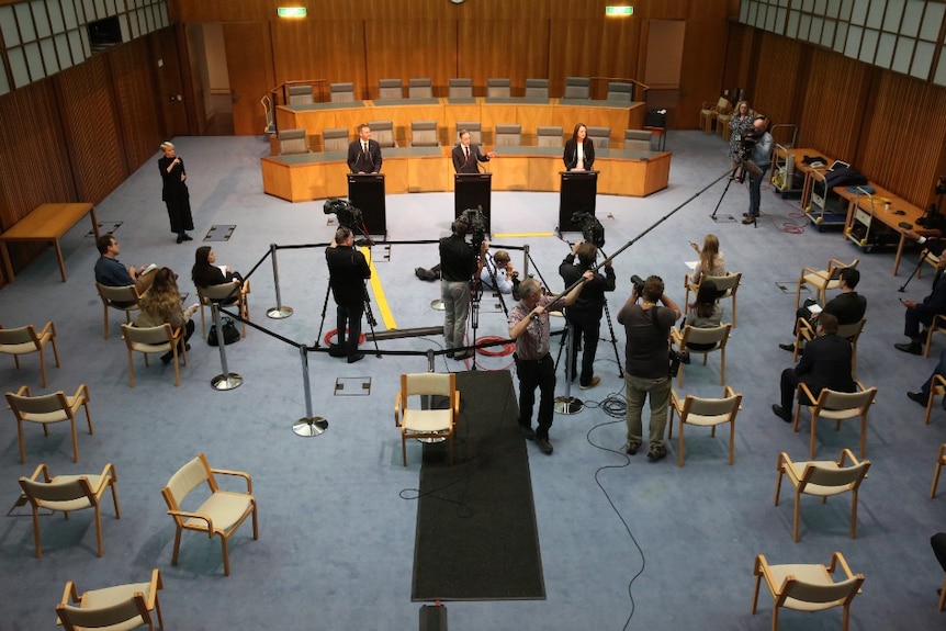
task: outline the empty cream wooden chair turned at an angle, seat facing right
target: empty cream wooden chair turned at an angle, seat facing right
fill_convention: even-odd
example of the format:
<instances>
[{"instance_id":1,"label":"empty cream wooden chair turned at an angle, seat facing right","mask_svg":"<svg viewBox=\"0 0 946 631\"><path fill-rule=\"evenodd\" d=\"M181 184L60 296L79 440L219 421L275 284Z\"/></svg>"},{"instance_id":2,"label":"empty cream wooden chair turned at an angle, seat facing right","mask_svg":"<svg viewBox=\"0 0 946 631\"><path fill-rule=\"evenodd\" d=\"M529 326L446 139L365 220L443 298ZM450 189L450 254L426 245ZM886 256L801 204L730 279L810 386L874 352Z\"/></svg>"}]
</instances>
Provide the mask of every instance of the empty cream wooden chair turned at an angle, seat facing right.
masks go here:
<instances>
[{"instance_id":1,"label":"empty cream wooden chair turned at an angle, seat facing right","mask_svg":"<svg viewBox=\"0 0 946 631\"><path fill-rule=\"evenodd\" d=\"M217 485L216 475L243 477L246 481L246 492L223 491ZM203 503L193 510L184 510L188 496L198 487L206 489L210 494L203 496ZM252 515L252 538L259 539L259 523L257 520L256 497L252 495L252 480L243 471L230 471L226 469L212 469L207 458L199 453L190 462L180 467L168 481L168 485L161 489L161 495L168 505L168 515L174 520L177 532L174 533L174 553L171 565L178 564L178 553L181 548L181 533L184 530L204 532L213 539L221 538L223 550L224 576L229 576L230 563L227 544L229 538L237 531L247 517Z\"/></svg>"}]
</instances>

